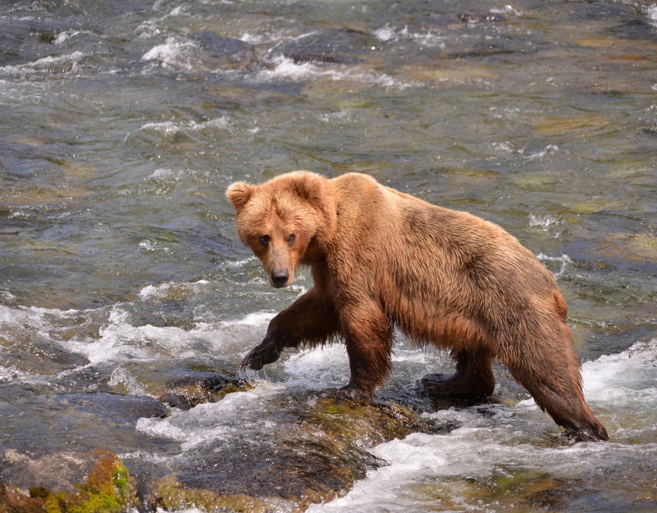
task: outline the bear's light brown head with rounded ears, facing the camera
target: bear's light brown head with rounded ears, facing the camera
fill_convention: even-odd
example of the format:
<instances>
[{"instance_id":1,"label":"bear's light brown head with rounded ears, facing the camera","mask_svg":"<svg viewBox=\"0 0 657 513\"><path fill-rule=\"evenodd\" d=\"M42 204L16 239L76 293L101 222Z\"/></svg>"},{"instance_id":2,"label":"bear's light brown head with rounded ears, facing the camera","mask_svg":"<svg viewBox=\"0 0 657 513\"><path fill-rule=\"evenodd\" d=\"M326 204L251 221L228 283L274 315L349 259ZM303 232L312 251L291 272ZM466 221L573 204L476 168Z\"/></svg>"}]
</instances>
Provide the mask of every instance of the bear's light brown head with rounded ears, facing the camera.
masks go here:
<instances>
[{"instance_id":1,"label":"bear's light brown head with rounded ears, facing the camera","mask_svg":"<svg viewBox=\"0 0 657 513\"><path fill-rule=\"evenodd\" d=\"M326 178L294 171L260 185L233 183L226 196L235 208L240 240L260 258L271 286L292 284L299 263L321 258L336 222Z\"/></svg>"}]
</instances>

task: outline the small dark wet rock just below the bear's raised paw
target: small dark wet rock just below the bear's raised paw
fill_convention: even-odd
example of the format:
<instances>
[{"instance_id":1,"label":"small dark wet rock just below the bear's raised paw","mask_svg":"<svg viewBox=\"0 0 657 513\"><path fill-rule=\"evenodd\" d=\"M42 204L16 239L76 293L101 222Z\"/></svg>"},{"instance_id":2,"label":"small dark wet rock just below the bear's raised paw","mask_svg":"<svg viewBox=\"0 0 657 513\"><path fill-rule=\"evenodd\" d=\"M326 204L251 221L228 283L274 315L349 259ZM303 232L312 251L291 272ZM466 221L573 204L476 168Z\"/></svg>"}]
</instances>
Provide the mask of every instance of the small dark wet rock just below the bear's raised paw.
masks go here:
<instances>
[{"instance_id":1,"label":"small dark wet rock just below the bear's raised paw","mask_svg":"<svg viewBox=\"0 0 657 513\"><path fill-rule=\"evenodd\" d=\"M227 393L252 388L244 380L227 378L221 374L211 374L204 378L195 375L185 376L169 386L170 391L162 394L158 400L183 410L189 410L202 403L216 403Z\"/></svg>"}]
</instances>

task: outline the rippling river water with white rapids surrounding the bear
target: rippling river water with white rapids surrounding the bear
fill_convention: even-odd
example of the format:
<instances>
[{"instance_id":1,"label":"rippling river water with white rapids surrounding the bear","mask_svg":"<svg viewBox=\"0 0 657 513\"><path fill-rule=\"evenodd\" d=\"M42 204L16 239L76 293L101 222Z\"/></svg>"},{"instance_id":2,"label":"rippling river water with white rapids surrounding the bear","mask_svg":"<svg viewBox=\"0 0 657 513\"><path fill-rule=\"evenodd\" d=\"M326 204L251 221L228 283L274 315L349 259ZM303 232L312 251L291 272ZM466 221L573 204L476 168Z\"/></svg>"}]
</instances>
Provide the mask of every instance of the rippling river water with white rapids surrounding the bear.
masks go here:
<instances>
[{"instance_id":1,"label":"rippling river water with white rapids surrounding the bear","mask_svg":"<svg viewBox=\"0 0 657 513\"><path fill-rule=\"evenodd\" d=\"M235 376L311 286L269 287L227 185L359 171L553 271L612 442L568 441L503 367L491 404L436 405L417 380L449 358L400 339L377 397L428 427L309 510L657 510L654 3L5 1L0 112L0 448L104 447L141 481L260 464L282 402L348 380L343 346L215 403L154 397Z\"/></svg>"}]
</instances>

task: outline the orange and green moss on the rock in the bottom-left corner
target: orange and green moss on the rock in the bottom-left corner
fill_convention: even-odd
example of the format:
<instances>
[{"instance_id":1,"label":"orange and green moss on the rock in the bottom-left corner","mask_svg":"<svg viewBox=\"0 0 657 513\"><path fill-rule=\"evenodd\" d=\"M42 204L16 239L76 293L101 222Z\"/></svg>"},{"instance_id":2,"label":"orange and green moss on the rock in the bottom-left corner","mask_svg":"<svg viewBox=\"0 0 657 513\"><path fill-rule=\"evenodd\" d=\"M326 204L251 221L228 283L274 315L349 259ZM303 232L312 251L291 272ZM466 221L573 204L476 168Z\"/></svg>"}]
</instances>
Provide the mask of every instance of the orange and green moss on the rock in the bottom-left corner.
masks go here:
<instances>
[{"instance_id":1,"label":"orange and green moss on the rock in the bottom-left corner","mask_svg":"<svg viewBox=\"0 0 657 513\"><path fill-rule=\"evenodd\" d=\"M101 449L79 455L91 462L85 480L70 490L52 490L36 485L26 492L0 483L0 513L118 513L137 506L135 482L116 455ZM30 460L39 466L39 460Z\"/></svg>"}]
</instances>

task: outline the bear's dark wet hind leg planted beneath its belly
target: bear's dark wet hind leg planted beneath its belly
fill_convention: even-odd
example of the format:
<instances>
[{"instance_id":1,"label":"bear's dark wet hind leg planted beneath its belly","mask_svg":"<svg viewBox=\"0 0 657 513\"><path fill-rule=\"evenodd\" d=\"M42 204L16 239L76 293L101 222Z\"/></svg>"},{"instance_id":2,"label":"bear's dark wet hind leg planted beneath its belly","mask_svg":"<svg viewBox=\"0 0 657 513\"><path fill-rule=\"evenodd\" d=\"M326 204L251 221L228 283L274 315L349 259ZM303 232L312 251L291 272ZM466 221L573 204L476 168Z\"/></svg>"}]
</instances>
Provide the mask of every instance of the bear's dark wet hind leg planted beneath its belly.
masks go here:
<instances>
[{"instance_id":1,"label":"bear's dark wet hind leg planted beneath its belly","mask_svg":"<svg viewBox=\"0 0 657 513\"><path fill-rule=\"evenodd\" d=\"M451 357L456 363L456 373L427 374L420 380L435 397L474 401L493 393L493 357L484 351L453 349Z\"/></svg>"}]
</instances>

